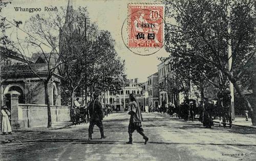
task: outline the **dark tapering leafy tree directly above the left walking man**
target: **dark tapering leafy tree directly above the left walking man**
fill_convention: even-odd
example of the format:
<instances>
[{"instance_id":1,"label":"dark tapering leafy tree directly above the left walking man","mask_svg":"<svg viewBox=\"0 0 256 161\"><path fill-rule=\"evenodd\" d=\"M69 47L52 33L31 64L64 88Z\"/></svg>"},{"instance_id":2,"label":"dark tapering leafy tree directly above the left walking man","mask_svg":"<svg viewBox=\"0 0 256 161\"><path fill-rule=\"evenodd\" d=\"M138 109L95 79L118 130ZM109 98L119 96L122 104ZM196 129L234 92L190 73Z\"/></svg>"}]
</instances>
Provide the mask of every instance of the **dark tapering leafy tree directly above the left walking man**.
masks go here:
<instances>
[{"instance_id":1,"label":"dark tapering leafy tree directly above the left walking man","mask_svg":"<svg viewBox=\"0 0 256 161\"><path fill-rule=\"evenodd\" d=\"M124 62L122 63L114 48L115 41L108 31L100 31L97 37L98 58L95 60L89 76L91 94L94 90L116 93L122 87L124 75Z\"/></svg>"}]
</instances>

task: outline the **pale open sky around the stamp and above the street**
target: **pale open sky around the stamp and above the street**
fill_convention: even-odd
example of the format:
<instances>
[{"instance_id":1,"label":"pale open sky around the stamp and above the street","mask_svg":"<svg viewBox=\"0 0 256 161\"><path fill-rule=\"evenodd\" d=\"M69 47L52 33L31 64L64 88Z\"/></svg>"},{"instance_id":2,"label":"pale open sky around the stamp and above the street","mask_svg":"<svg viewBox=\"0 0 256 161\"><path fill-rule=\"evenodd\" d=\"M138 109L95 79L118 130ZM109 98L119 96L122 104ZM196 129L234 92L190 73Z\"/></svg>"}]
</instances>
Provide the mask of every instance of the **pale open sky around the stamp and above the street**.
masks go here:
<instances>
[{"instance_id":1,"label":"pale open sky around the stamp and above the street","mask_svg":"<svg viewBox=\"0 0 256 161\"><path fill-rule=\"evenodd\" d=\"M27 1L11 1L5 7L0 15L6 17L8 20L22 20L26 21L34 14L44 13L45 7L56 6L59 8L67 7L68 0L27 0ZM86 6L89 11L89 17L91 22L96 22L100 30L108 30L113 39L115 39L115 49L122 60L125 60L125 73L128 78L139 78L139 82L147 81L147 77L157 72L157 65L161 62L158 60L159 57L168 57L168 53L161 48L158 52L151 56L139 56L131 52L126 48L121 37L122 24L128 16L127 5L129 3L138 3L138 1L127 1L127 0L73 0L72 5L74 8L78 6ZM143 3L156 3L155 1L143 1ZM16 12L14 7L22 8L41 8L41 12ZM21 25L20 28L24 28ZM12 34L14 35L14 30ZM22 31L18 31L20 37L26 37L26 34Z\"/></svg>"}]
</instances>

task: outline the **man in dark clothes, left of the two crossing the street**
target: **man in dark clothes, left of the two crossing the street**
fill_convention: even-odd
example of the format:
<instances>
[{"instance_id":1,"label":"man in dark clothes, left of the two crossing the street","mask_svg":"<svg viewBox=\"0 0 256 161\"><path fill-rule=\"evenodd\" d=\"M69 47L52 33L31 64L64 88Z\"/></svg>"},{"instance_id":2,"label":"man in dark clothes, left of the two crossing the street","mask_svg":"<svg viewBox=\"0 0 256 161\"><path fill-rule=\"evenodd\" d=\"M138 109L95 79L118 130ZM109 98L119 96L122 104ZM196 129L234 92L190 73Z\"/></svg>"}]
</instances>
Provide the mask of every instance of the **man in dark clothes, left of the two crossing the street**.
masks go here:
<instances>
[{"instance_id":1,"label":"man in dark clothes, left of the two crossing the street","mask_svg":"<svg viewBox=\"0 0 256 161\"><path fill-rule=\"evenodd\" d=\"M93 101L89 105L89 113L90 113L90 125L89 125L89 140L92 140L92 133L94 125L97 125L100 130L100 139L105 139L104 131L103 131L103 124L102 119L104 118L102 105L99 101L99 94L93 94Z\"/></svg>"}]
</instances>

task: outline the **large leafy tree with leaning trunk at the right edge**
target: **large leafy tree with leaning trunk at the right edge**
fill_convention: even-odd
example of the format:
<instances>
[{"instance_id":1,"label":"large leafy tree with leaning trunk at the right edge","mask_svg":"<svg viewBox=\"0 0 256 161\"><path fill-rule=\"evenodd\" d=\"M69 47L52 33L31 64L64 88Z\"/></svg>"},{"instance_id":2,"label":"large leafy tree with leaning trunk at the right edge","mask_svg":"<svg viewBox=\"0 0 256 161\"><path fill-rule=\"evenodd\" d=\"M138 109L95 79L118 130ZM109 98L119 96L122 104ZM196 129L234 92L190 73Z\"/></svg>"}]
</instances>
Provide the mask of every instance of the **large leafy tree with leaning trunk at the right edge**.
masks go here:
<instances>
[{"instance_id":1,"label":"large leafy tree with leaning trunk at the right edge","mask_svg":"<svg viewBox=\"0 0 256 161\"><path fill-rule=\"evenodd\" d=\"M166 51L177 58L197 58L197 62L205 64L204 70L211 67L220 70L246 102L255 125L256 109L239 86L246 69L255 61L255 2L183 0L165 3L166 16L176 20L176 24L166 23ZM228 32L229 23L231 33ZM231 70L227 57L229 40L232 45Z\"/></svg>"}]
</instances>

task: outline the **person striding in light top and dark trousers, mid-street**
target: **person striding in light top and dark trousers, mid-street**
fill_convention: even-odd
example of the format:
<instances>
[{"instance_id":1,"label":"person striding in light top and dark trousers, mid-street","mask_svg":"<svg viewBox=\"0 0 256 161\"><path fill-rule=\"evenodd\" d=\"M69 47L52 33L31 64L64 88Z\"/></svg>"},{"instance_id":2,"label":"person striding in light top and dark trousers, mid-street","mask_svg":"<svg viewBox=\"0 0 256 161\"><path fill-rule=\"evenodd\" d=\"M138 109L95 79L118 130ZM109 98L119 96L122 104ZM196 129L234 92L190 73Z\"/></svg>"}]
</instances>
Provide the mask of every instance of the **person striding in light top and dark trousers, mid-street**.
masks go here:
<instances>
[{"instance_id":1,"label":"person striding in light top and dark trousers, mid-street","mask_svg":"<svg viewBox=\"0 0 256 161\"><path fill-rule=\"evenodd\" d=\"M126 144L133 144L133 132L134 130L137 130L137 132L143 136L143 139L145 140L144 144L148 141L148 138L144 134L144 130L142 128L142 115L140 111L140 107L138 105L138 102L136 101L136 98L134 94L130 94L130 108L131 111L128 113L131 115L130 117L130 123L128 126L128 133L129 133L129 142L126 142Z\"/></svg>"}]
</instances>

